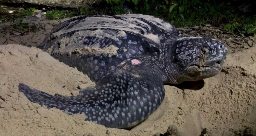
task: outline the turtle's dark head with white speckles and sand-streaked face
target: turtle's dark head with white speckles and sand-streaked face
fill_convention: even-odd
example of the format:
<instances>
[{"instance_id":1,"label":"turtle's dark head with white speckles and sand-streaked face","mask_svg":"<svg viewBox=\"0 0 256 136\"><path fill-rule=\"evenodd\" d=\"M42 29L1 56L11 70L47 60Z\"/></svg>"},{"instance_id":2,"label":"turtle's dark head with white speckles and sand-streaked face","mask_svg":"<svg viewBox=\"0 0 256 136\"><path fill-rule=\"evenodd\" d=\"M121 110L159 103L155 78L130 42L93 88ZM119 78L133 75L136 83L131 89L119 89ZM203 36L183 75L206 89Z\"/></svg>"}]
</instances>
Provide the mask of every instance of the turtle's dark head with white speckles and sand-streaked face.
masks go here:
<instances>
[{"instance_id":1,"label":"turtle's dark head with white speckles and sand-streaked face","mask_svg":"<svg viewBox=\"0 0 256 136\"><path fill-rule=\"evenodd\" d=\"M177 74L172 78L175 79L174 84L197 81L218 74L227 53L224 44L214 39L204 37L177 39L171 50L171 67Z\"/></svg>"}]
</instances>

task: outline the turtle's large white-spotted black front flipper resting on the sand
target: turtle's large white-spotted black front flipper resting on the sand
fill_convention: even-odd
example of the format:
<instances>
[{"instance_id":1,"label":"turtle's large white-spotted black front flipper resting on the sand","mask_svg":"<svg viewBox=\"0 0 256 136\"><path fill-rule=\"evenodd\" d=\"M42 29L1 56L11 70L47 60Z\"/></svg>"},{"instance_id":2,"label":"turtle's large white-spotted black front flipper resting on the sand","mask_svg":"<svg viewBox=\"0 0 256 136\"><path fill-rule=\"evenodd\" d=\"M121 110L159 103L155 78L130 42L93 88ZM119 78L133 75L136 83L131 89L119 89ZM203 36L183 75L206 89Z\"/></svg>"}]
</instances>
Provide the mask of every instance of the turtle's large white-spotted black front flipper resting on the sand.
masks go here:
<instances>
[{"instance_id":1,"label":"turtle's large white-spotted black front flipper resting on the sand","mask_svg":"<svg viewBox=\"0 0 256 136\"><path fill-rule=\"evenodd\" d=\"M32 102L74 114L110 128L128 129L152 114L164 99L161 72L154 58L142 56L121 63L94 88L77 96L51 96L24 84L19 90Z\"/></svg>"}]
</instances>

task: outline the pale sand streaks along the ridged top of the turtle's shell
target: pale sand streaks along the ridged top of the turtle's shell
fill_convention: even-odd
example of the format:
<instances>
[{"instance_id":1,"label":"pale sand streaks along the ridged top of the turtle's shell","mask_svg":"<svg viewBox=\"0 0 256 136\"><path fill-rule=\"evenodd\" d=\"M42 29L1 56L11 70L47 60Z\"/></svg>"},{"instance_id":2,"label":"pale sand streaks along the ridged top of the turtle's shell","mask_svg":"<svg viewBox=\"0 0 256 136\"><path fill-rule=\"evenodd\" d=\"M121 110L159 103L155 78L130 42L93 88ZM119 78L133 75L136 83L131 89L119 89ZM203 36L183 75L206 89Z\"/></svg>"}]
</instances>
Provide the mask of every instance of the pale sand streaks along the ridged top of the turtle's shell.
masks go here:
<instances>
[{"instance_id":1,"label":"pale sand streaks along the ridged top of the turtle's shell","mask_svg":"<svg viewBox=\"0 0 256 136\"><path fill-rule=\"evenodd\" d=\"M118 15L118 16L124 17L123 15ZM129 17L129 16L132 16L132 17ZM69 22L70 26L73 26L72 28L69 28L69 29L63 28L60 31L54 32L52 34L54 36L59 36L64 33L75 32L75 35L80 35L81 33L86 33L87 32L86 29L90 29L90 28L93 28L93 29L116 29L119 31L123 31L123 32L126 31L126 32L131 32L134 34L141 34L141 31L143 31L144 34L141 34L142 36L144 36L145 38L148 38L148 39L152 39L154 42L159 44L160 39L159 39L158 35L154 35L151 32L148 32L145 28L143 28L137 24L137 22L139 22L140 24L143 24L144 27L151 29L151 26L149 26L148 24L146 24L145 22L143 22L139 19L141 17L143 17L144 19L146 19L147 21L149 21L153 24L156 24L161 29L164 29L164 30L167 30L170 32L173 29L173 27L169 23L164 22L162 19L155 18L153 16L147 16L147 15L144 16L141 14L131 14L131 15L128 15L127 18L124 17L122 19L113 19L112 16L84 18L81 20L81 21L83 21L83 23L76 24L76 21ZM95 24L95 22L99 22L99 23ZM103 22L103 24L100 22ZM86 31L76 32L78 30L86 30ZM98 32L88 33L87 35L95 34L97 36L99 34L98 35L99 37L104 36L104 35L110 36L110 35L107 35L106 33L101 34L100 31L101 30L99 30ZM122 32L121 32L121 35L122 35ZM115 39L115 37L112 37L112 38ZM70 44L70 42L69 42L69 44Z\"/></svg>"}]
</instances>

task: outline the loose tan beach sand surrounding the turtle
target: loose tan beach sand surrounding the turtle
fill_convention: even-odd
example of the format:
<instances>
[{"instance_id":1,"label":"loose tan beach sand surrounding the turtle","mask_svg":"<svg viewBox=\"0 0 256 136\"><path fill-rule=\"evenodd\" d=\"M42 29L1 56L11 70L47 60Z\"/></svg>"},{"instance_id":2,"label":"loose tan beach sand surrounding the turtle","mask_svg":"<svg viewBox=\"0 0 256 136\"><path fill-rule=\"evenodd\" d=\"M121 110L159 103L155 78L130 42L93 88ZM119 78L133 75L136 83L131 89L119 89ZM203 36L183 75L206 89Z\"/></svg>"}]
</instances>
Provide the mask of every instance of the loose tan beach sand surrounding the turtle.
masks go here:
<instances>
[{"instance_id":1,"label":"loose tan beach sand surrounding the turtle","mask_svg":"<svg viewBox=\"0 0 256 136\"><path fill-rule=\"evenodd\" d=\"M67 115L55 108L48 110L30 102L18 91L18 83L22 82L51 95L71 96L78 94L77 86L94 85L76 68L36 47L26 47L39 45L53 27L48 28L45 33L14 37L15 43L23 45L10 44L12 41L9 45L0 45L0 136L158 136L165 133L169 125L177 126L186 136L255 136L255 45L248 47L243 43L236 50L228 47L226 64L215 77L176 86L165 85L166 96L161 106L128 131L84 121L82 115ZM5 32L4 36L11 35ZM29 36L32 35L40 40L31 43ZM256 41L255 37L251 38ZM2 37L0 39L3 41ZM29 44L24 42L26 39Z\"/></svg>"}]
</instances>

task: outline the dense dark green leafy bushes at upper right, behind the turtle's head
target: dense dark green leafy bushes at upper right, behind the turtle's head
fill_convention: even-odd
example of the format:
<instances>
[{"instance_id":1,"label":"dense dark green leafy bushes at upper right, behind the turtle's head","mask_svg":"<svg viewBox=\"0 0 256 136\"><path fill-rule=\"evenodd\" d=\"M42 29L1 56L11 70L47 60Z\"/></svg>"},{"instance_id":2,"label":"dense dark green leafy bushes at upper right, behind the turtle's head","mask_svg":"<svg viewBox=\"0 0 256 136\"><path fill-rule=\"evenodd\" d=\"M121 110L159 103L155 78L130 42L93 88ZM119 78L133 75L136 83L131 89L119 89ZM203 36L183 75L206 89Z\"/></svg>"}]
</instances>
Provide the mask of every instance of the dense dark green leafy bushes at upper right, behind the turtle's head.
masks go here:
<instances>
[{"instance_id":1,"label":"dense dark green leafy bushes at upper right, behind the turtle's head","mask_svg":"<svg viewBox=\"0 0 256 136\"><path fill-rule=\"evenodd\" d=\"M106 0L106 2L111 5L114 14L124 14L124 5L128 5L133 13L161 17L176 27L193 27L212 23L229 32L256 33L256 16L246 16L240 12L237 8L238 1Z\"/></svg>"}]
</instances>

